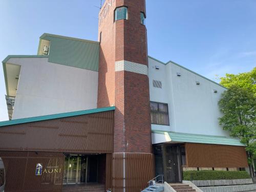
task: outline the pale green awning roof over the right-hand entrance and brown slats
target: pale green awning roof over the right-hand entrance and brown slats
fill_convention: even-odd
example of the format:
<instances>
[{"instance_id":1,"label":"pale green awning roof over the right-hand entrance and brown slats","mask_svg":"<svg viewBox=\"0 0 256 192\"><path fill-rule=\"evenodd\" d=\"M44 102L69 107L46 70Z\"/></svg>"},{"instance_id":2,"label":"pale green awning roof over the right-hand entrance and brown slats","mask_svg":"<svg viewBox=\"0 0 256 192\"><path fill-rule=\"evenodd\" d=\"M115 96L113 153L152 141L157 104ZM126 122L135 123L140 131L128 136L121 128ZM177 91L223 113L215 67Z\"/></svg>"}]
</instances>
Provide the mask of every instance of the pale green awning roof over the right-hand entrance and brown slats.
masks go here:
<instances>
[{"instance_id":1,"label":"pale green awning roof over the right-hand entrance and brown slats","mask_svg":"<svg viewBox=\"0 0 256 192\"><path fill-rule=\"evenodd\" d=\"M152 130L152 133L164 134L164 135L167 134L170 137L171 141L176 141L176 142L245 146L243 143L240 142L238 138L233 138L233 137L188 134L188 133L179 133L179 132L166 132L166 131L158 131L158 130Z\"/></svg>"}]
</instances>

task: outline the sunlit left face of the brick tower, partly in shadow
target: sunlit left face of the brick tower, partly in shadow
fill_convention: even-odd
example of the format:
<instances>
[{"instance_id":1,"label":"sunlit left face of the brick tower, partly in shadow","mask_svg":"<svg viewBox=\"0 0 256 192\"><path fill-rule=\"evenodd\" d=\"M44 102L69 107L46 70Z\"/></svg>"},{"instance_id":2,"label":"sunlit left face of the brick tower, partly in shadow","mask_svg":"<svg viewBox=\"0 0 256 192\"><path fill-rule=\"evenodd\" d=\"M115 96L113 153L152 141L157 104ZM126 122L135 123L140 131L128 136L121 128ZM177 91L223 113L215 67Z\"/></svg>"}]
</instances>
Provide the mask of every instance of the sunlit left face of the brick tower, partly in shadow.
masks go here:
<instances>
[{"instance_id":1,"label":"sunlit left face of the brick tower, partly in shadow","mask_svg":"<svg viewBox=\"0 0 256 192\"><path fill-rule=\"evenodd\" d=\"M112 2L112 6L108 3ZM99 13L99 51L98 108L115 104L115 25L114 10L116 1L106 0ZM105 9L108 11L104 14ZM103 16L105 16L103 18ZM100 24L100 18L102 23ZM100 39L99 39L100 40Z\"/></svg>"}]
</instances>

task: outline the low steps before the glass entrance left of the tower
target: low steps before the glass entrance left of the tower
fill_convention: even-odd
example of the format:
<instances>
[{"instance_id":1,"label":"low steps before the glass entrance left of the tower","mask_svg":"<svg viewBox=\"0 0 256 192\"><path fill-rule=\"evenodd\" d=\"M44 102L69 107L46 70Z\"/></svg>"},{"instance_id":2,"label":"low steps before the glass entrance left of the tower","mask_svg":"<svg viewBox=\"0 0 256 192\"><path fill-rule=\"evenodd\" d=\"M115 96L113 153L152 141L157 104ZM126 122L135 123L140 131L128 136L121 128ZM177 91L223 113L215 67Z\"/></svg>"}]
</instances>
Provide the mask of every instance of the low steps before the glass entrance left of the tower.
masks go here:
<instances>
[{"instance_id":1,"label":"low steps before the glass entrance left of the tower","mask_svg":"<svg viewBox=\"0 0 256 192\"><path fill-rule=\"evenodd\" d=\"M63 185L62 192L105 192L105 185L98 183Z\"/></svg>"}]
</instances>

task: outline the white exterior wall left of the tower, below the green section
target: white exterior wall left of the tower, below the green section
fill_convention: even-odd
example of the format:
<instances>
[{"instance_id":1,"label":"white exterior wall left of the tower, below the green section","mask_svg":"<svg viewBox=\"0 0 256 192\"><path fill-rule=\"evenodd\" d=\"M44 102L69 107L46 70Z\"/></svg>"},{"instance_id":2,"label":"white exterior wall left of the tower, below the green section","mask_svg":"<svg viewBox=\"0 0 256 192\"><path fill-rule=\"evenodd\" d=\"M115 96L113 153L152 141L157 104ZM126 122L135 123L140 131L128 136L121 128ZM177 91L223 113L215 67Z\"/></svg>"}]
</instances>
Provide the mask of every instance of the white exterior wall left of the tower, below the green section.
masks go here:
<instances>
[{"instance_id":1,"label":"white exterior wall left of the tower, below the green section","mask_svg":"<svg viewBox=\"0 0 256 192\"><path fill-rule=\"evenodd\" d=\"M48 62L10 58L20 65L12 119L97 108L98 72Z\"/></svg>"}]
</instances>

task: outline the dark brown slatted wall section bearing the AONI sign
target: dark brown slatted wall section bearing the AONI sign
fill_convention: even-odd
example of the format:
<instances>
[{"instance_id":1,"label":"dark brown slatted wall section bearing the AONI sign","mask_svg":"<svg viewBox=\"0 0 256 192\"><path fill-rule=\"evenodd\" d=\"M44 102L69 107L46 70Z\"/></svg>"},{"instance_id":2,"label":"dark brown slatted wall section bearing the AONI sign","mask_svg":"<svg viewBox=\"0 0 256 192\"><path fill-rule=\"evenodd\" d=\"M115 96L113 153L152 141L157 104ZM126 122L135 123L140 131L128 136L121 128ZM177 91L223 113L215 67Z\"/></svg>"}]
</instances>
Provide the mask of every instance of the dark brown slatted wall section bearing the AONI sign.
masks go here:
<instances>
[{"instance_id":1,"label":"dark brown slatted wall section bearing the AONI sign","mask_svg":"<svg viewBox=\"0 0 256 192\"><path fill-rule=\"evenodd\" d=\"M15 152L1 151L6 168L5 191L61 191L64 155L51 152ZM36 176L36 164L58 166L61 173L42 174Z\"/></svg>"}]
</instances>

